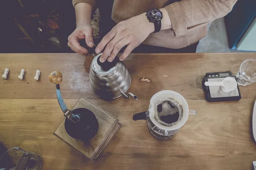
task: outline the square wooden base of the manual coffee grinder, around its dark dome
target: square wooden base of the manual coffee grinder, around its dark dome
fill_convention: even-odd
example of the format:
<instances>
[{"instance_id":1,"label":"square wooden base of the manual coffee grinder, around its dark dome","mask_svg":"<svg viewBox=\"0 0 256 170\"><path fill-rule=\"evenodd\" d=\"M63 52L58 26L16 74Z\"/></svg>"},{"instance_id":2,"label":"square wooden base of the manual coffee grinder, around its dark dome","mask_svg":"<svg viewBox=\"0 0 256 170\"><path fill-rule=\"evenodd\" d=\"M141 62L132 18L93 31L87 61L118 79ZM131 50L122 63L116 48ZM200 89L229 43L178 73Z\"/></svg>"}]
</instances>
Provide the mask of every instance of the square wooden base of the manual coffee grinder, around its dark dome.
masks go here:
<instances>
[{"instance_id":1,"label":"square wooden base of the manual coffee grinder, around its dark dome","mask_svg":"<svg viewBox=\"0 0 256 170\"><path fill-rule=\"evenodd\" d=\"M65 130L64 122L61 122L61 125L54 132L56 136L67 142L70 146L76 149L79 153L92 160L94 155L99 152L101 145L105 142L108 135L112 132L113 128L116 127L118 120L113 117L108 112L104 111L102 108L99 108L97 105L94 105L84 97L81 97L72 110L76 108L86 108L92 111L99 123L99 130L96 135L89 141L81 141L74 139L69 136ZM113 133L116 133L114 131ZM99 155L97 156L99 157Z\"/></svg>"}]
</instances>

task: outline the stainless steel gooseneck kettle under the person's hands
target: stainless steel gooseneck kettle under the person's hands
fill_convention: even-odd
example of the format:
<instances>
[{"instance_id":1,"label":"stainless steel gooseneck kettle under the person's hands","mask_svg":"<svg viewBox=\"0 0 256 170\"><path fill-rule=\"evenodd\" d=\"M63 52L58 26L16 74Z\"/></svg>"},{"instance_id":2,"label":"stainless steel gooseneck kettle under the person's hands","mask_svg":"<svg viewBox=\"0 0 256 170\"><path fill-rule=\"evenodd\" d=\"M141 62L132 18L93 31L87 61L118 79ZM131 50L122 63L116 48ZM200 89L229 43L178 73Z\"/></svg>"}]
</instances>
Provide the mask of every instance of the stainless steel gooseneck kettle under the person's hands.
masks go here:
<instances>
[{"instance_id":1,"label":"stainless steel gooseneck kettle under the person's hands","mask_svg":"<svg viewBox=\"0 0 256 170\"><path fill-rule=\"evenodd\" d=\"M95 53L95 47L85 48L90 54L93 54L94 59L90 65L90 87L93 92L102 99L116 99L124 96L128 99L128 95L132 96L135 100L138 97L132 93L125 94L131 85L131 74L126 68L125 64L116 57L112 62L100 62L101 54Z\"/></svg>"}]
</instances>

